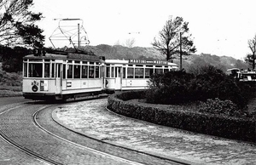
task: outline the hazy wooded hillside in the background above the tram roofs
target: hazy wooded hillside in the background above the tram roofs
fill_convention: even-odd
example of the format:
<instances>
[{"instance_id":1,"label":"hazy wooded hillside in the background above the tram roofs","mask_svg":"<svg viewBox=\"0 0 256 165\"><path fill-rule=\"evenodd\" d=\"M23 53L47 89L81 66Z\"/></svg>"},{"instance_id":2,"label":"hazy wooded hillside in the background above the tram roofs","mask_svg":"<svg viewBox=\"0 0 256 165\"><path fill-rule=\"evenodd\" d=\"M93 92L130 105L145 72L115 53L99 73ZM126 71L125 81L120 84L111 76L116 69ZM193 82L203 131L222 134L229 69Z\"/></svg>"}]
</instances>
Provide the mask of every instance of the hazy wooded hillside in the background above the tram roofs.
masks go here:
<instances>
[{"instance_id":1,"label":"hazy wooded hillside in the background above the tram roofs","mask_svg":"<svg viewBox=\"0 0 256 165\"><path fill-rule=\"evenodd\" d=\"M110 46L107 44L101 44L97 46L87 46L84 49L94 52L96 55L105 56L106 59L165 60L166 58L165 55L160 54L160 52L154 48L127 48L120 45ZM179 65L179 57L177 56L173 62ZM223 71L233 67L241 69L247 69L249 67L244 61L236 60L230 56L191 54L183 57L183 68L185 70L189 70L191 67L198 67L200 65L214 65Z\"/></svg>"}]
</instances>

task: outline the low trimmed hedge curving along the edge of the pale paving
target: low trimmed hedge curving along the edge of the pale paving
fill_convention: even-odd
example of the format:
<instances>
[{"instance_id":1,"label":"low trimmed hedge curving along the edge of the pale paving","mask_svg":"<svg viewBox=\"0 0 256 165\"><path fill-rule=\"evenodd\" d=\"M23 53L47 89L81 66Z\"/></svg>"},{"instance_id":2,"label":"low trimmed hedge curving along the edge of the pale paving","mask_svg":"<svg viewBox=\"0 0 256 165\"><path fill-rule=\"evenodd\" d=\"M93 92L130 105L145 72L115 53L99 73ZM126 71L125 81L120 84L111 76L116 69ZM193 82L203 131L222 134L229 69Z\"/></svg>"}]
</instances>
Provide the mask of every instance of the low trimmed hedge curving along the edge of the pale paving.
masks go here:
<instances>
[{"instance_id":1,"label":"low trimmed hedge curving along the edge of the pale paving","mask_svg":"<svg viewBox=\"0 0 256 165\"><path fill-rule=\"evenodd\" d=\"M146 91L113 94L108 97L108 109L126 117L154 122L172 128L211 134L228 139L256 142L256 122L253 118L223 117L198 111L160 109L129 101L143 99L145 94Z\"/></svg>"}]
</instances>

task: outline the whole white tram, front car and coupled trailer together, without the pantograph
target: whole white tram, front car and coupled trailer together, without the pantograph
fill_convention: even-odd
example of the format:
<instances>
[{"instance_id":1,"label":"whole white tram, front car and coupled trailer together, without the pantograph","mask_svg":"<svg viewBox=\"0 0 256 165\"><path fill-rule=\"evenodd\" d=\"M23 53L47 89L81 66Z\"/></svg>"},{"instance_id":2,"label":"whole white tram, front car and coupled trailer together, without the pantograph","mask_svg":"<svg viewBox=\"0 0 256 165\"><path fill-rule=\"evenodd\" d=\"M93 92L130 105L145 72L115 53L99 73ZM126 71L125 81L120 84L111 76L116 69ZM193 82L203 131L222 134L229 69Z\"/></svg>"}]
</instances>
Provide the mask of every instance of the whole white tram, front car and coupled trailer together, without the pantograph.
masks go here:
<instances>
[{"instance_id":1,"label":"whole white tram, front car and coupled trailer together, without the pantograph","mask_svg":"<svg viewBox=\"0 0 256 165\"><path fill-rule=\"evenodd\" d=\"M163 60L104 60L94 54L30 54L23 58L23 96L32 100L76 100L102 91L148 88L154 73L177 71Z\"/></svg>"}]
</instances>

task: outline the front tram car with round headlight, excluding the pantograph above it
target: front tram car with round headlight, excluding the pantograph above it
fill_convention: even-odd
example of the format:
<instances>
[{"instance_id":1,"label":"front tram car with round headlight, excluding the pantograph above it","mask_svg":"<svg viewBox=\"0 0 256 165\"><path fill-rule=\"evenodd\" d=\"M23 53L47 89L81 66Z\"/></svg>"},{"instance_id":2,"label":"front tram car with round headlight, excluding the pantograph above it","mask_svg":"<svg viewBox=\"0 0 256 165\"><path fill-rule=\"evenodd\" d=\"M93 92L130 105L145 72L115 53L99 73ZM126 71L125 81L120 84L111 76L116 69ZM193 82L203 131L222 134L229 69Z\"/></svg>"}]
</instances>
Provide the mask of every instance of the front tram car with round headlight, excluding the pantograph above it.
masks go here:
<instances>
[{"instance_id":1,"label":"front tram car with round headlight, excluding the pantograph above it","mask_svg":"<svg viewBox=\"0 0 256 165\"><path fill-rule=\"evenodd\" d=\"M23 58L23 96L67 100L102 93L104 61L90 54L29 54Z\"/></svg>"}]
</instances>

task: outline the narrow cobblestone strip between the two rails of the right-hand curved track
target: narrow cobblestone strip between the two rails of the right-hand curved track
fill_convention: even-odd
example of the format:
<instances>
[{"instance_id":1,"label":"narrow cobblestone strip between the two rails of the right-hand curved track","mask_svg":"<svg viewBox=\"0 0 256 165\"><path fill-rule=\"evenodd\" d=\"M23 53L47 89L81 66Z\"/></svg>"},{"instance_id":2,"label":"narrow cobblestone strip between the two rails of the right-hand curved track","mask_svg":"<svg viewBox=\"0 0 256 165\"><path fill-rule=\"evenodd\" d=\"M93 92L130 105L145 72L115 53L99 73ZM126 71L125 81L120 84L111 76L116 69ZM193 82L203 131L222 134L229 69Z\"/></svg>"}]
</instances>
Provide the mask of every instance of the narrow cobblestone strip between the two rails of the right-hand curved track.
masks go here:
<instances>
[{"instance_id":1,"label":"narrow cobblestone strip between the two rails of the right-hand curved track","mask_svg":"<svg viewBox=\"0 0 256 165\"><path fill-rule=\"evenodd\" d=\"M94 100L94 101L97 101L97 100ZM85 104L86 103L87 102L85 102ZM58 107L61 107L61 106L62 105ZM47 129L49 132L53 132L54 134L64 139L68 139L73 141L76 144L88 146L92 149L95 149L96 151L106 152L110 155L122 157L124 159L128 159L133 162L139 162L139 163L148 164L148 165L178 164L170 160L159 158L158 156L150 156L144 153L140 153L138 151L127 150L124 147L119 147L119 145L108 144L108 143L105 143L104 141L102 142L102 140L91 139L84 136L84 134L77 134L73 131L68 130L67 128L60 126L60 124L53 121L52 111L53 111L52 109L47 109L46 111L42 111L41 113L39 113L38 122L41 126ZM180 161L178 159L174 159L174 160ZM187 163L186 161L183 161L183 162Z\"/></svg>"}]
</instances>

